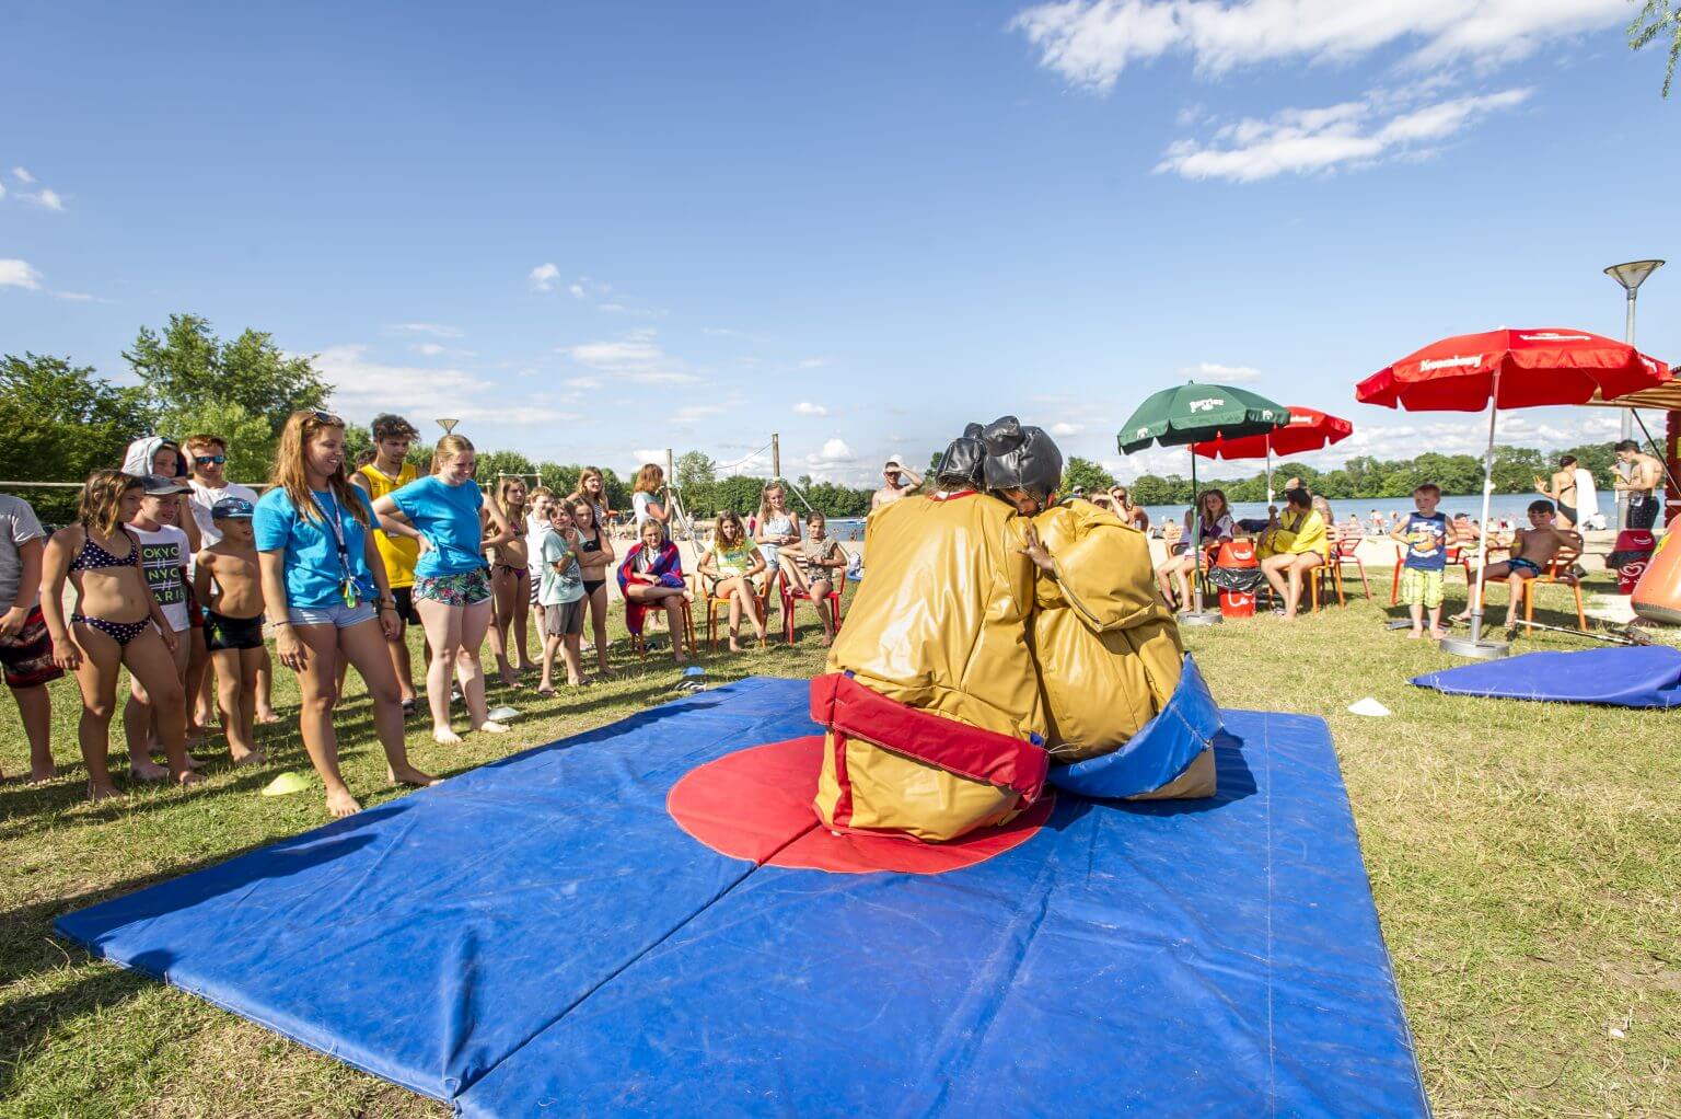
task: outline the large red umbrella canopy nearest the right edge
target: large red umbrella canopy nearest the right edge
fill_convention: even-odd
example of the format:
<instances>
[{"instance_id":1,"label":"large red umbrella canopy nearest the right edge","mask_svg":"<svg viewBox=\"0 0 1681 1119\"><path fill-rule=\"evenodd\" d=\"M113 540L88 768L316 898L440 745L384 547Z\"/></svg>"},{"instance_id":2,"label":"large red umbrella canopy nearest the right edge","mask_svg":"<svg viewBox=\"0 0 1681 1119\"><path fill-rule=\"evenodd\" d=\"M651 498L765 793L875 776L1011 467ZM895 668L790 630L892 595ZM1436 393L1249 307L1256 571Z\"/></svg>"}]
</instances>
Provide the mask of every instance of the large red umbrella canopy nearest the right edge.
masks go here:
<instances>
[{"instance_id":1,"label":"large red umbrella canopy nearest the right edge","mask_svg":"<svg viewBox=\"0 0 1681 1119\"><path fill-rule=\"evenodd\" d=\"M1481 412L1494 407L1585 404L1597 390L1610 400L1669 380L1669 367L1626 342L1585 330L1491 330L1427 345L1358 385L1363 404L1409 412Z\"/></svg>"}]
</instances>

